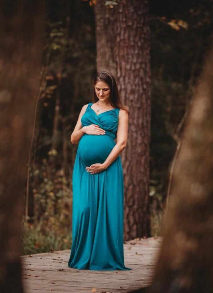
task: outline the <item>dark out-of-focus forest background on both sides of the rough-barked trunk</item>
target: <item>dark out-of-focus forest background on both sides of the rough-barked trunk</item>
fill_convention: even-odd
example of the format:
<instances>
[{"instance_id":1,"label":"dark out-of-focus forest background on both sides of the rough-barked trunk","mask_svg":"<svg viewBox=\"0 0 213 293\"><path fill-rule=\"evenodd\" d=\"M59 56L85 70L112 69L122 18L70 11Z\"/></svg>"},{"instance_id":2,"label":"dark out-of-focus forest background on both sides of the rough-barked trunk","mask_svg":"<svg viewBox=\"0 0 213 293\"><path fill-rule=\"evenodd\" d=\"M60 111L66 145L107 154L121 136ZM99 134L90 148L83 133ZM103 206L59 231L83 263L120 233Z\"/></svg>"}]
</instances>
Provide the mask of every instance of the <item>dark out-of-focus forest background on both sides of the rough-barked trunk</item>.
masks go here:
<instances>
[{"instance_id":1,"label":"dark out-of-focus forest background on both sides of the rough-barked trunk","mask_svg":"<svg viewBox=\"0 0 213 293\"><path fill-rule=\"evenodd\" d=\"M46 1L22 254L71 247L71 178L77 145L72 145L70 135L82 105L92 101L97 71L93 6L80 0ZM162 235L169 172L205 52L212 43L212 15L212 1L149 1L151 236Z\"/></svg>"}]
</instances>

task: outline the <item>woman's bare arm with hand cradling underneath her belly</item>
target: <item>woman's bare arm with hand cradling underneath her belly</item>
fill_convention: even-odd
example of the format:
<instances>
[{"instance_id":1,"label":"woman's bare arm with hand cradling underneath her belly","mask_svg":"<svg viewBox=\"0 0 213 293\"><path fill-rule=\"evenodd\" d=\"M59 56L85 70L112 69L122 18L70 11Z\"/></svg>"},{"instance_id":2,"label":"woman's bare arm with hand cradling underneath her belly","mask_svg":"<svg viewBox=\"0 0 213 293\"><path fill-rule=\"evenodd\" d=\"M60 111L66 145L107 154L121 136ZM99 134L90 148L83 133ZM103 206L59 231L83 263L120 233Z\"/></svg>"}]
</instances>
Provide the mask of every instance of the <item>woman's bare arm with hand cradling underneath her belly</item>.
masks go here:
<instances>
[{"instance_id":1,"label":"woman's bare arm with hand cradling underneath her belly","mask_svg":"<svg viewBox=\"0 0 213 293\"><path fill-rule=\"evenodd\" d=\"M117 128L117 143L115 147L113 147L112 151L104 161L104 163L95 163L89 167L86 167L86 170L91 173L98 173L106 168L117 159L120 155L122 150L127 145L127 133L128 133L128 122L129 122L129 115L125 110L120 109L118 115L118 128Z\"/></svg>"}]
</instances>

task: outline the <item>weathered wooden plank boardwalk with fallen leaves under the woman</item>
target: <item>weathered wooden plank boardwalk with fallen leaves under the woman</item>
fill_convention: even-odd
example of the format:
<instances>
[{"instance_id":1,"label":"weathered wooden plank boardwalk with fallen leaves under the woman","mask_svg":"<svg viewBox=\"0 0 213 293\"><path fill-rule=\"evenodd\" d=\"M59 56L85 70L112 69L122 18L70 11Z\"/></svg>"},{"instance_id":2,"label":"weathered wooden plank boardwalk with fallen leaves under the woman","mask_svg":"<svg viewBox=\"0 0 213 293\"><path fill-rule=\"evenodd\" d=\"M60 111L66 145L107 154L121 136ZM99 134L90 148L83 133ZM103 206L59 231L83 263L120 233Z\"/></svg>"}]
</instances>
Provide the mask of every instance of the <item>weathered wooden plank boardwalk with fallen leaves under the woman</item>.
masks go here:
<instances>
[{"instance_id":1,"label":"weathered wooden plank boardwalk with fallen leaves under the woman","mask_svg":"<svg viewBox=\"0 0 213 293\"><path fill-rule=\"evenodd\" d=\"M68 267L70 250L22 255L25 293L127 293L148 287L156 265L161 237L124 243L124 263L132 270L93 271Z\"/></svg>"}]
</instances>

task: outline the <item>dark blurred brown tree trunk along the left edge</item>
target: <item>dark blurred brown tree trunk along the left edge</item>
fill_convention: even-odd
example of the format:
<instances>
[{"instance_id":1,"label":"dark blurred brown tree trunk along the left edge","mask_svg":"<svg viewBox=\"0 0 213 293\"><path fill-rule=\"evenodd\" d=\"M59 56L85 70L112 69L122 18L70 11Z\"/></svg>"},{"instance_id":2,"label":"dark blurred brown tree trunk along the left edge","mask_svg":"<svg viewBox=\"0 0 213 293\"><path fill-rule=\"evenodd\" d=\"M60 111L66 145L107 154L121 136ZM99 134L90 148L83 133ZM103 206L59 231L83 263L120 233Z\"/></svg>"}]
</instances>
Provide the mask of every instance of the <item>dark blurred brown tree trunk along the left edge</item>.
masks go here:
<instances>
[{"instance_id":1,"label":"dark blurred brown tree trunk along the left edge","mask_svg":"<svg viewBox=\"0 0 213 293\"><path fill-rule=\"evenodd\" d=\"M22 292L21 220L41 69L41 1L1 0L0 292Z\"/></svg>"}]
</instances>

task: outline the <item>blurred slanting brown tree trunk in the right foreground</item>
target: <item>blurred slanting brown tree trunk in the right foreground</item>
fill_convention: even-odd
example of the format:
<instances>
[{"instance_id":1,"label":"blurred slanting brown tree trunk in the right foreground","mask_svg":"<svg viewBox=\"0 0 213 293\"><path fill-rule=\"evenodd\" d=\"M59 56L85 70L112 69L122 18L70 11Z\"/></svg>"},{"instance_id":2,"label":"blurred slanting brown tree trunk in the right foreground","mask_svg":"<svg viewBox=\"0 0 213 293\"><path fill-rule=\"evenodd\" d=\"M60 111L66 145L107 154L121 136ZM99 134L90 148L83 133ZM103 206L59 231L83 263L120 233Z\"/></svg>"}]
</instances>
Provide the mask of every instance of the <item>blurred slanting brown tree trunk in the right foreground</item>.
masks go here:
<instances>
[{"instance_id":1,"label":"blurred slanting brown tree trunk in the right foreground","mask_svg":"<svg viewBox=\"0 0 213 293\"><path fill-rule=\"evenodd\" d=\"M213 292L213 50L206 60L174 165L152 293Z\"/></svg>"}]
</instances>

